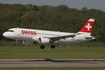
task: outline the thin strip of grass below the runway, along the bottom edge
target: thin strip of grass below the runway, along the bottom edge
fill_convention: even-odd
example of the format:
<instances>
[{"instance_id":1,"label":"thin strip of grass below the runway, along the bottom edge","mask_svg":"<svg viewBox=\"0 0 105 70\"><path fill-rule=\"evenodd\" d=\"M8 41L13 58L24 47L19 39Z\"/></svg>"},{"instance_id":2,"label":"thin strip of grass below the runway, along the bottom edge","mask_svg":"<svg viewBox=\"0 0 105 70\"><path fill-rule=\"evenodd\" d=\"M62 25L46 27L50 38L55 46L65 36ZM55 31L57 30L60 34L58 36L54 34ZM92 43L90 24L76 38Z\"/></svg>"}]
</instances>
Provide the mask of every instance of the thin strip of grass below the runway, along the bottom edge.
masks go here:
<instances>
[{"instance_id":1,"label":"thin strip of grass below the runway, along the bottom edge","mask_svg":"<svg viewBox=\"0 0 105 70\"><path fill-rule=\"evenodd\" d=\"M105 68L0 68L0 70L105 70Z\"/></svg>"}]
</instances>

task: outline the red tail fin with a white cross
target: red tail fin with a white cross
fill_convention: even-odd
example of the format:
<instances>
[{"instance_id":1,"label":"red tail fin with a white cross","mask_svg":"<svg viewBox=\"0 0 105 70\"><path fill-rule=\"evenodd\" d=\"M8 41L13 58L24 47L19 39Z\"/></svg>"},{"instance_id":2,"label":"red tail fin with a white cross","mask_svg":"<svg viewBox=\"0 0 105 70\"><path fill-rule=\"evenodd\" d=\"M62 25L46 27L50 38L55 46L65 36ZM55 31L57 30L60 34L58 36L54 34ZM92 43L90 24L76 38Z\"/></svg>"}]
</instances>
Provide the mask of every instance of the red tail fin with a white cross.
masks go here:
<instances>
[{"instance_id":1,"label":"red tail fin with a white cross","mask_svg":"<svg viewBox=\"0 0 105 70\"><path fill-rule=\"evenodd\" d=\"M78 33L86 33L91 35L95 19L89 19Z\"/></svg>"}]
</instances>

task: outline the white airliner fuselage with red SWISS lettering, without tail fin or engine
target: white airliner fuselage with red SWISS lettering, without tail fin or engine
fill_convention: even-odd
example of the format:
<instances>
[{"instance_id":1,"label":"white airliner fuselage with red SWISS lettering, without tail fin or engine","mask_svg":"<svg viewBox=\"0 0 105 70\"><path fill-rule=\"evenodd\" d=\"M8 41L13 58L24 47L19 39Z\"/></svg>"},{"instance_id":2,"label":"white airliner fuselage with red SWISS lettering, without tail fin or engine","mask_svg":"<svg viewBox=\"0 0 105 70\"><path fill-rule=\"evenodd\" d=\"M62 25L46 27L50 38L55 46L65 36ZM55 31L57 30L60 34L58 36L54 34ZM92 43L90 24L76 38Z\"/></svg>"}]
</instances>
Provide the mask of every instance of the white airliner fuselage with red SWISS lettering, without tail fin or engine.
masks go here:
<instances>
[{"instance_id":1,"label":"white airliner fuselage with red SWISS lettering, without tail fin or engine","mask_svg":"<svg viewBox=\"0 0 105 70\"><path fill-rule=\"evenodd\" d=\"M33 40L34 37L38 38L52 38L52 37L61 37L66 35L73 35L74 33L67 33L67 32L55 32L55 31L46 31L46 30L35 30L35 29L24 29L24 28L12 28L9 29L7 32L3 33L3 36L15 39L15 40L25 40L31 42L37 42L37 40ZM54 43L77 43L82 41L88 41L91 39L86 39L85 34L77 34L75 37L68 37L62 38Z\"/></svg>"}]
</instances>

